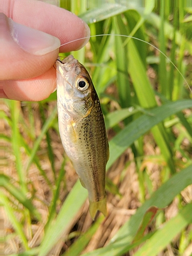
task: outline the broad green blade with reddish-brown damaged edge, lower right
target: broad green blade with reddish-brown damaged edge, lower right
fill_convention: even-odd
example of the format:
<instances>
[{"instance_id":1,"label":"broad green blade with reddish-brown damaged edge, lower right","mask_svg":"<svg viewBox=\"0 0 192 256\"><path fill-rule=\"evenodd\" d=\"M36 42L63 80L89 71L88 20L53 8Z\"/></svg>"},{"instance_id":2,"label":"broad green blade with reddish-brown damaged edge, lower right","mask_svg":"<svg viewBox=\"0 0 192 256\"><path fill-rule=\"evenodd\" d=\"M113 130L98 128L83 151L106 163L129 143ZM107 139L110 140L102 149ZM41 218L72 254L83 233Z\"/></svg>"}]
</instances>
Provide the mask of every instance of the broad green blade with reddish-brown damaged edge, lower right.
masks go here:
<instances>
[{"instance_id":1,"label":"broad green blade with reddish-brown damaged edge, lower right","mask_svg":"<svg viewBox=\"0 0 192 256\"><path fill-rule=\"evenodd\" d=\"M112 238L111 243L104 248L94 250L83 256L119 256L130 249L137 230L146 210L151 206L158 208L166 207L172 200L188 185L192 184L192 165L175 174L156 190L150 199L137 210L129 221L127 221ZM177 184L177 186L176 186ZM188 209L187 209L188 211ZM191 212L191 211L190 211ZM148 254L151 255L151 254Z\"/></svg>"}]
</instances>

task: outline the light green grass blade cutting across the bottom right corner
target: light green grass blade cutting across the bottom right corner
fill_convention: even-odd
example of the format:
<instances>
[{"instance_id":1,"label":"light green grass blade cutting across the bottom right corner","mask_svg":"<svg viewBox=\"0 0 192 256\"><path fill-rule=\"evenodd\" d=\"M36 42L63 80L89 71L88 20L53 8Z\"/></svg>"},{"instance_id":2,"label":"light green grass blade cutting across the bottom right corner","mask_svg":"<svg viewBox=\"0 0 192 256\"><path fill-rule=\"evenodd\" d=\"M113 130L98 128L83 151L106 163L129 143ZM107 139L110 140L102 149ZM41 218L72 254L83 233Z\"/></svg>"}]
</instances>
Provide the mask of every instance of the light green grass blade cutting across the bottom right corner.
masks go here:
<instances>
[{"instance_id":1,"label":"light green grass blade cutting across the bottom right corner","mask_svg":"<svg viewBox=\"0 0 192 256\"><path fill-rule=\"evenodd\" d=\"M160 253L179 232L192 222L192 204L187 204L179 214L170 219L163 228L159 229L142 247L135 256L156 256Z\"/></svg>"}]
</instances>

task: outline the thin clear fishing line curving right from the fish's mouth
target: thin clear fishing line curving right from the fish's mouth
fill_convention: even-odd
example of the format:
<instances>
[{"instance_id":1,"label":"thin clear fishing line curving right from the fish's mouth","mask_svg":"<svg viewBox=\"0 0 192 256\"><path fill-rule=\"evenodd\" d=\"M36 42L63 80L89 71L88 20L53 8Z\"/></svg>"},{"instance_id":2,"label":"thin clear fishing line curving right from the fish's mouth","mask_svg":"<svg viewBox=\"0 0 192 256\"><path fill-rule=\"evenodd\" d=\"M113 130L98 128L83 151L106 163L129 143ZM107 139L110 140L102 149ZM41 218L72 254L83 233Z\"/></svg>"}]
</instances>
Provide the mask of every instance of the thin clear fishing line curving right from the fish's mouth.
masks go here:
<instances>
[{"instance_id":1,"label":"thin clear fishing line curving right from the fish's mouth","mask_svg":"<svg viewBox=\"0 0 192 256\"><path fill-rule=\"evenodd\" d=\"M71 44L71 42L76 42L76 41L78 41L78 40L86 39L86 38L89 38L89 37L95 37L95 36L110 36L110 35L133 38L133 39L136 39L136 40L145 42L147 45L150 45L150 46L152 46L153 48L155 48L157 51L159 51L161 54L163 54L163 56L164 56L166 59L168 59L168 61L169 61L170 63L172 63L172 65L173 65L174 68L179 72L179 74L182 76L182 78L183 78L183 80L186 82L186 84L187 84L187 86L188 86L190 92L192 93L192 90L190 89L188 82L186 81L186 79L184 78L184 76L182 75L182 73L179 71L179 69L176 67L176 65L174 64L174 62L173 62L172 60L170 60L170 59L169 59L161 50L159 50L156 46L154 46L154 45L150 44L150 42L144 41L144 40L142 40L142 39L140 39L140 38L137 38L137 37L134 37L134 36L130 36L130 35L100 34L100 35L91 35L91 36L81 37L81 38L72 40L72 41L70 41L70 42L66 42L65 44L63 44L63 45L61 45L61 46L65 46L65 45Z\"/></svg>"}]
</instances>

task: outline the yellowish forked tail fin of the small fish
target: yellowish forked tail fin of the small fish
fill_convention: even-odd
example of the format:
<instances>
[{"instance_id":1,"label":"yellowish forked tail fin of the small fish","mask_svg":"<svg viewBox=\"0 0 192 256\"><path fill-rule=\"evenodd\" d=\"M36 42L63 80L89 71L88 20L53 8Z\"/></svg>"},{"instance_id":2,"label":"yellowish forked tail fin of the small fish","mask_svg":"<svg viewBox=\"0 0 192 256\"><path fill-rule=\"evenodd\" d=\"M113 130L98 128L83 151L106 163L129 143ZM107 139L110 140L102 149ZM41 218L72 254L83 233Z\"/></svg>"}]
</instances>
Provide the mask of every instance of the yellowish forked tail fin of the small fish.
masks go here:
<instances>
[{"instance_id":1,"label":"yellowish forked tail fin of the small fish","mask_svg":"<svg viewBox=\"0 0 192 256\"><path fill-rule=\"evenodd\" d=\"M104 216L107 215L108 211L106 210L106 197L100 201L90 202L89 211L93 220L95 220L95 215L98 210L101 211Z\"/></svg>"}]
</instances>

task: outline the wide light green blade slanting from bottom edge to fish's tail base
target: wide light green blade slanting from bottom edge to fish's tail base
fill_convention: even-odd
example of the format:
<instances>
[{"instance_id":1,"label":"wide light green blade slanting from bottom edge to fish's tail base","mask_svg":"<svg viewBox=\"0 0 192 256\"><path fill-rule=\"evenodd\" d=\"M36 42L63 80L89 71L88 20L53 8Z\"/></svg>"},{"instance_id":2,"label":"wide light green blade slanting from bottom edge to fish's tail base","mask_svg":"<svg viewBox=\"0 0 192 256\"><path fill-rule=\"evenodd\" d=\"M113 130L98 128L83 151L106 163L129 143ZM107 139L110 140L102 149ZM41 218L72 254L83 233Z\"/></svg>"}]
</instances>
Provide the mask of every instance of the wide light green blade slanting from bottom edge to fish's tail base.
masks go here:
<instances>
[{"instance_id":1,"label":"wide light green blade slanting from bottom edge to fish's tail base","mask_svg":"<svg viewBox=\"0 0 192 256\"><path fill-rule=\"evenodd\" d=\"M57 243L62 233L70 227L70 224L74 220L75 215L83 205L87 196L87 190L82 187L79 181L76 182L63 203L53 226L49 227L47 230L44 240L40 245L38 256L48 255L48 252Z\"/></svg>"}]
</instances>

